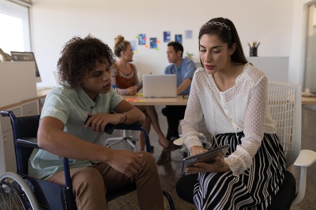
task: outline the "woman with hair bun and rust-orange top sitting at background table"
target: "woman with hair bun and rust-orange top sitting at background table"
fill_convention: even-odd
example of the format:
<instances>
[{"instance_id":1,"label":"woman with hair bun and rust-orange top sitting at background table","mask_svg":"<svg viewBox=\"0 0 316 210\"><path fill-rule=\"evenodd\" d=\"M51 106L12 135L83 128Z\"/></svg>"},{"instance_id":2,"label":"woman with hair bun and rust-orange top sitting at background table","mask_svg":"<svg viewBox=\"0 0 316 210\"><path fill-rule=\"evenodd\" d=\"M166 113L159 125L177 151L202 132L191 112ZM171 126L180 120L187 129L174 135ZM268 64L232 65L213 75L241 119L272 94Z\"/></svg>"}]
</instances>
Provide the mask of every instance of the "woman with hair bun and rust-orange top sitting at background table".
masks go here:
<instances>
[{"instance_id":1,"label":"woman with hair bun and rust-orange top sitting at background table","mask_svg":"<svg viewBox=\"0 0 316 210\"><path fill-rule=\"evenodd\" d=\"M136 95L142 88L137 77L136 66L130 63L133 60L133 50L129 41L124 40L124 37L119 35L115 38L114 53L119 58L112 69L112 85L117 85L117 92L120 95ZM159 144L163 148L169 147L169 141L162 132L157 112L154 106L137 106L145 114L145 123L143 127L149 133L150 124L158 135ZM145 136L139 134L139 151L145 149Z\"/></svg>"}]
</instances>

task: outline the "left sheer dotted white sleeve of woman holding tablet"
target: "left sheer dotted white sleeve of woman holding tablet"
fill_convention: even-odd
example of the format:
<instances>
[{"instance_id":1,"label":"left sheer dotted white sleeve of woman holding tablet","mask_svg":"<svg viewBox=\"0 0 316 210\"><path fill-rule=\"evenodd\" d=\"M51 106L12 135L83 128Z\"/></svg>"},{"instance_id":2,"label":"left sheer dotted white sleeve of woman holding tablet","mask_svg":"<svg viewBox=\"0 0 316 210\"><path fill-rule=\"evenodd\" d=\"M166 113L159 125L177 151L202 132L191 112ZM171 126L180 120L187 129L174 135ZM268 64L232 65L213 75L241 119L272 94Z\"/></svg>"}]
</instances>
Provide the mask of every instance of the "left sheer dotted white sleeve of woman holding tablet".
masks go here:
<instances>
[{"instance_id":1,"label":"left sheer dotted white sleeve of woman holding tablet","mask_svg":"<svg viewBox=\"0 0 316 210\"><path fill-rule=\"evenodd\" d=\"M191 152L192 146L202 146L202 143L198 137L197 124L202 120L203 113L198 96L198 87L195 78L196 75L193 76L184 119L181 121L184 144L187 146L189 152Z\"/></svg>"}]
</instances>

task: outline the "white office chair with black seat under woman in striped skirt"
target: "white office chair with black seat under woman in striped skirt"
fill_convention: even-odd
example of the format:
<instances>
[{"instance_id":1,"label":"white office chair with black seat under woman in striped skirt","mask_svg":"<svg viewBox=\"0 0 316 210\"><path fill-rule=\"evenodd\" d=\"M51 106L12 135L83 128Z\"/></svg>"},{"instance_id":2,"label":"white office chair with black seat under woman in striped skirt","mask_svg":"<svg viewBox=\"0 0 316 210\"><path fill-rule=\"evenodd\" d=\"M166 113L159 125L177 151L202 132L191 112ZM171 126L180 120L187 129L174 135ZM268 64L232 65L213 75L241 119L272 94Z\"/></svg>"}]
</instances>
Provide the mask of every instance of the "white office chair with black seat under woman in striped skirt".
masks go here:
<instances>
[{"instance_id":1,"label":"white office chair with black seat under woman in striped skirt","mask_svg":"<svg viewBox=\"0 0 316 210\"><path fill-rule=\"evenodd\" d=\"M272 198L268 210L288 210L291 205L299 203L305 194L307 167L316 160L316 153L310 150L301 150L301 89L300 86L268 82L268 99L271 116L277 121L277 135L279 136L286 158L286 168L292 164L301 167L299 189L296 192L296 183L290 171L285 172L282 186ZM183 144L179 139L177 144ZM177 184L176 190L182 199L193 203L193 188L196 175L183 176Z\"/></svg>"}]
</instances>

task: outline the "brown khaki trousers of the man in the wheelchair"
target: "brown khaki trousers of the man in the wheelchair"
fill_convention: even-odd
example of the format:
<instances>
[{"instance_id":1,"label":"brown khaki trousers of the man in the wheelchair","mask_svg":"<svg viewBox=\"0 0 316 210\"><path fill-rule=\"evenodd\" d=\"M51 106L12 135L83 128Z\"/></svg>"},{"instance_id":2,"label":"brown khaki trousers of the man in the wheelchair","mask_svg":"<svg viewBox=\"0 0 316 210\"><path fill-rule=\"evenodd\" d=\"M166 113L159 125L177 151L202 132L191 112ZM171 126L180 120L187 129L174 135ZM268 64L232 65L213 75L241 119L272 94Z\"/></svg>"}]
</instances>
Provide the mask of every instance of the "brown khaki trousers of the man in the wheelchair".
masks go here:
<instances>
[{"instance_id":1,"label":"brown khaki trousers of the man in the wheelchair","mask_svg":"<svg viewBox=\"0 0 316 210\"><path fill-rule=\"evenodd\" d=\"M155 160L147 152L139 153L143 154L143 167L135 177L131 178L106 163L70 169L78 210L106 210L108 209L106 194L134 182L141 210L164 209L163 190ZM47 181L65 185L64 171L54 174Z\"/></svg>"}]
</instances>

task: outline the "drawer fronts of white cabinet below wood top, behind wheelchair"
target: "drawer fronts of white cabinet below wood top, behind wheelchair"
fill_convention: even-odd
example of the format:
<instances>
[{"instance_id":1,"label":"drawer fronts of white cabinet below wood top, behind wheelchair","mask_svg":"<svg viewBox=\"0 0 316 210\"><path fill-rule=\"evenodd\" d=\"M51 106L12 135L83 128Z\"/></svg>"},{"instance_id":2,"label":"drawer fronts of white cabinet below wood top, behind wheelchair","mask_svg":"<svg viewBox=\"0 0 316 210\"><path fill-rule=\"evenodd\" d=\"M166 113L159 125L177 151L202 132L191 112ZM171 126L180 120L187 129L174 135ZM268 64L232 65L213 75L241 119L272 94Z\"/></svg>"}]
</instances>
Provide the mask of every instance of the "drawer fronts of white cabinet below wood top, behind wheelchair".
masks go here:
<instances>
[{"instance_id":1,"label":"drawer fronts of white cabinet below wood top, behind wheelchair","mask_svg":"<svg viewBox=\"0 0 316 210\"><path fill-rule=\"evenodd\" d=\"M21 104L21 106L6 108L13 111L15 116L32 116L39 114L38 100ZM0 117L0 175L12 171L16 172L16 158L14 152L13 132L10 117Z\"/></svg>"}]
</instances>

